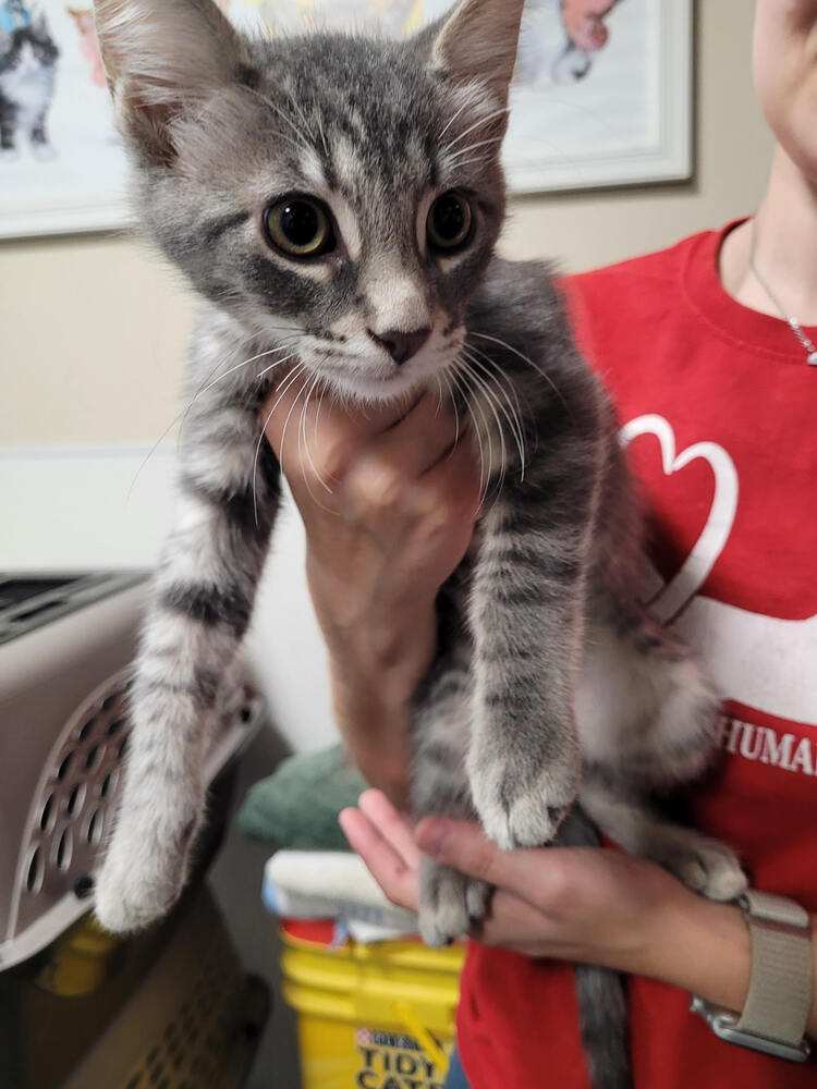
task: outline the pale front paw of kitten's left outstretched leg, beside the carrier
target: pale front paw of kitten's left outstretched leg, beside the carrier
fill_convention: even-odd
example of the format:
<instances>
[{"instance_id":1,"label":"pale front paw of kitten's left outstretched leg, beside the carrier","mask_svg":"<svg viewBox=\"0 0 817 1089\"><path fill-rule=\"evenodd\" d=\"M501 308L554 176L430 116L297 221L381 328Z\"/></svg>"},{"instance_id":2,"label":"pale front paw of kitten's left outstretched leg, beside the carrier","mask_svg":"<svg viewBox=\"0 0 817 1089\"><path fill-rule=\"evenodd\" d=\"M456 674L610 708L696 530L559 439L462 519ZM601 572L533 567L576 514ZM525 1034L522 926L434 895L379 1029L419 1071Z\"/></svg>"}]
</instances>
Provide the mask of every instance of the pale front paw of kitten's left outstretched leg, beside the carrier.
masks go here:
<instances>
[{"instance_id":1,"label":"pale front paw of kitten's left outstretched leg, beside the carrier","mask_svg":"<svg viewBox=\"0 0 817 1089\"><path fill-rule=\"evenodd\" d=\"M117 829L95 879L95 913L106 930L142 930L170 910L184 886L188 842L179 848L178 837L169 844Z\"/></svg>"}]
</instances>

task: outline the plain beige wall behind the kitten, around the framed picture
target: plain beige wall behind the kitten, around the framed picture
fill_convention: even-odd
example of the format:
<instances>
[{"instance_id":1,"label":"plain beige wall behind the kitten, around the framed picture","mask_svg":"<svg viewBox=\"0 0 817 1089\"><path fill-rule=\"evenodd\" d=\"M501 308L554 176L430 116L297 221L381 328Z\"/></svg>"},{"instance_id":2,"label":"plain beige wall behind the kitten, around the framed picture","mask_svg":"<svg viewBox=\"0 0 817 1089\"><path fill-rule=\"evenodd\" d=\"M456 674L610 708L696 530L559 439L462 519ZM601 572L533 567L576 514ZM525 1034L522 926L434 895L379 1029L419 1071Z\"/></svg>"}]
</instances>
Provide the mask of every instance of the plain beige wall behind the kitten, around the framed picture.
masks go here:
<instances>
[{"instance_id":1,"label":"plain beige wall behind the kitten, around the framed picture","mask_svg":"<svg viewBox=\"0 0 817 1089\"><path fill-rule=\"evenodd\" d=\"M578 270L752 211L771 147L749 76L754 5L697 8L694 181L516 200L508 254ZM158 439L190 323L173 274L130 236L0 244L0 445Z\"/></svg>"}]
</instances>

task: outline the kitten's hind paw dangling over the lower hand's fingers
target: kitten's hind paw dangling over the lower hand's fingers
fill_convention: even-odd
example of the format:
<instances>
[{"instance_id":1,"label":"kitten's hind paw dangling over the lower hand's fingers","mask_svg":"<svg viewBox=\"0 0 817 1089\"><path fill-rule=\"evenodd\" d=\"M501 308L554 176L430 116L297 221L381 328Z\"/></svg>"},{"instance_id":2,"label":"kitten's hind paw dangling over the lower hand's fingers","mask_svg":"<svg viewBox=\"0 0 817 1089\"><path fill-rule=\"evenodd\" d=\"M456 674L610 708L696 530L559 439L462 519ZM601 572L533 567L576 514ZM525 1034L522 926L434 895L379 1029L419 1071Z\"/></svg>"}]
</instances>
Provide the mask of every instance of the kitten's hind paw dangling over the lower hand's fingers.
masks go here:
<instances>
[{"instance_id":1,"label":"kitten's hind paw dangling over the lower hand's fingers","mask_svg":"<svg viewBox=\"0 0 817 1089\"><path fill-rule=\"evenodd\" d=\"M450 945L484 918L490 885L430 858L420 861L419 932L426 945Z\"/></svg>"}]
</instances>

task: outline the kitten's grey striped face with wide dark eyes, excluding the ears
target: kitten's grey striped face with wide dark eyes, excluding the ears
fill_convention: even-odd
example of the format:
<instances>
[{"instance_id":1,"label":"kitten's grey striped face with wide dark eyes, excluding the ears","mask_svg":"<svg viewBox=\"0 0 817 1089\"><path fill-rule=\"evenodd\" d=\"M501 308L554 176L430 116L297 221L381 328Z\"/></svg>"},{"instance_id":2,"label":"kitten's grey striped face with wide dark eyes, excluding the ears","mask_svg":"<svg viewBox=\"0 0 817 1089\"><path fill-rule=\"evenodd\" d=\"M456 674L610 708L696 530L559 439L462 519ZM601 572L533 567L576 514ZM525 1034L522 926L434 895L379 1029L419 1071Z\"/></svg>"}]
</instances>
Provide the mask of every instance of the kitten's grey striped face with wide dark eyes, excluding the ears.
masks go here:
<instances>
[{"instance_id":1,"label":"kitten's grey striped face with wide dark eyes, excluding the ears","mask_svg":"<svg viewBox=\"0 0 817 1089\"><path fill-rule=\"evenodd\" d=\"M504 96L441 74L446 29L236 38L239 62L195 109L126 118L166 253L351 396L391 399L453 364L501 225Z\"/></svg>"}]
</instances>

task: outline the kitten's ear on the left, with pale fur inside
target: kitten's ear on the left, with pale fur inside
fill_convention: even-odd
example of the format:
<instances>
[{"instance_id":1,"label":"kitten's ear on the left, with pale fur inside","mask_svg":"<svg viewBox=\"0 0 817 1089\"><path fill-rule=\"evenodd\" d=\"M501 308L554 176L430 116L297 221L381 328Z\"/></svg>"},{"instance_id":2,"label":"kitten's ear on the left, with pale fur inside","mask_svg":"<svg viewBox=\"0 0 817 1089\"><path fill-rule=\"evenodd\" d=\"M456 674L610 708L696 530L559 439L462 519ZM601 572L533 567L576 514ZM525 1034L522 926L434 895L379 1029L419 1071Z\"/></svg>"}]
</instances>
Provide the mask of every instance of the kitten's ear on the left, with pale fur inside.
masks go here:
<instances>
[{"instance_id":1,"label":"kitten's ear on the left, with pale fur inside","mask_svg":"<svg viewBox=\"0 0 817 1089\"><path fill-rule=\"evenodd\" d=\"M94 0L94 15L124 134L172 163L173 120L235 78L241 38L212 0Z\"/></svg>"}]
</instances>

